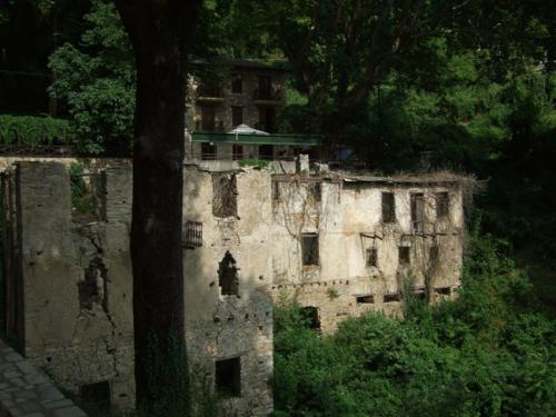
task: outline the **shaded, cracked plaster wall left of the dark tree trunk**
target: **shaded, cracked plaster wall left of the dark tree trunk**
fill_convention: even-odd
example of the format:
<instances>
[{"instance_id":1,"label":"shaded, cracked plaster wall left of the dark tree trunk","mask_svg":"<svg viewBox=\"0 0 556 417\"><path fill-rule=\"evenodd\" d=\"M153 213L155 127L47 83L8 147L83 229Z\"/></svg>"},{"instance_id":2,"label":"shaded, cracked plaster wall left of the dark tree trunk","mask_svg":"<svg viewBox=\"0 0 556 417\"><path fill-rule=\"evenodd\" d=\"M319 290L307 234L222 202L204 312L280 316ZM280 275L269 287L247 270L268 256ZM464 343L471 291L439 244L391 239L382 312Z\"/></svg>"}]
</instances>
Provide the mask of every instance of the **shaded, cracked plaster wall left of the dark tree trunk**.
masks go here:
<instances>
[{"instance_id":1,"label":"shaded, cracked plaster wall left of the dark tree trunk","mask_svg":"<svg viewBox=\"0 0 556 417\"><path fill-rule=\"evenodd\" d=\"M69 176L56 162L20 162L24 354L66 389L111 381L133 404L129 246L130 170L107 170L108 222L71 221ZM121 187L126 185L126 187ZM100 292L81 305L86 271Z\"/></svg>"}]
</instances>

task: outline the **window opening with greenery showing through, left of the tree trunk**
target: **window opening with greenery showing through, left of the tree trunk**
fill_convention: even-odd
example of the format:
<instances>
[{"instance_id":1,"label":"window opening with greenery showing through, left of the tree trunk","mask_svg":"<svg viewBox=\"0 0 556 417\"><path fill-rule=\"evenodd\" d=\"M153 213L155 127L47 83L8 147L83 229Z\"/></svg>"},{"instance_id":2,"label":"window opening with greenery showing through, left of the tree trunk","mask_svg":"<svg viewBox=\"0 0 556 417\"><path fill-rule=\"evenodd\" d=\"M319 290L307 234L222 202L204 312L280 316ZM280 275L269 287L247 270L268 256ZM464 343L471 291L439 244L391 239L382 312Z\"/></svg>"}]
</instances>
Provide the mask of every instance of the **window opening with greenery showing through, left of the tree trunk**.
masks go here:
<instances>
[{"instance_id":1,"label":"window opening with greenery showing through, left of the tree trunk","mask_svg":"<svg viewBox=\"0 0 556 417\"><path fill-rule=\"evenodd\" d=\"M106 220L106 172L83 173L82 167L70 168L71 220Z\"/></svg>"}]
</instances>

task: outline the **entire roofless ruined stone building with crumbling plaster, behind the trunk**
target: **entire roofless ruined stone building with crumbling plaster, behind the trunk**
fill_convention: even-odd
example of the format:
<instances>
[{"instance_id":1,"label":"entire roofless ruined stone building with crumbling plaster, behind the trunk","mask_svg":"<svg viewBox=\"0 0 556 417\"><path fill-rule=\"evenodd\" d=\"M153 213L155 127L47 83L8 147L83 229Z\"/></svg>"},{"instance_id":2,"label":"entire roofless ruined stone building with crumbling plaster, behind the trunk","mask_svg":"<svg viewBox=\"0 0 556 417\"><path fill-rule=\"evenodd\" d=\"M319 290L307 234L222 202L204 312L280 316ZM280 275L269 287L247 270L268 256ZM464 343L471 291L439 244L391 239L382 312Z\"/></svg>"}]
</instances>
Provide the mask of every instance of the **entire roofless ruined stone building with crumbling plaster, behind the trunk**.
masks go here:
<instances>
[{"instance_id":1,"label":"entire roofless ruined stone building with crumbling plaster, behind the trunk","mask_svg":"<svg viewBox=\"0 0 556 417\"><path fill-rule=\"evenodd\" d=\"M436 301L459 285L455 176L183 169L190 369L225 415L272 410L272 300L296 299L330 332L368 310L400 314L408 291ZM83 183L85 214L71 195ZM59 162L19 162L1 185L7 336L61 387L132 407L130 167L70 178Z\"/></svg>"}]
</instances>

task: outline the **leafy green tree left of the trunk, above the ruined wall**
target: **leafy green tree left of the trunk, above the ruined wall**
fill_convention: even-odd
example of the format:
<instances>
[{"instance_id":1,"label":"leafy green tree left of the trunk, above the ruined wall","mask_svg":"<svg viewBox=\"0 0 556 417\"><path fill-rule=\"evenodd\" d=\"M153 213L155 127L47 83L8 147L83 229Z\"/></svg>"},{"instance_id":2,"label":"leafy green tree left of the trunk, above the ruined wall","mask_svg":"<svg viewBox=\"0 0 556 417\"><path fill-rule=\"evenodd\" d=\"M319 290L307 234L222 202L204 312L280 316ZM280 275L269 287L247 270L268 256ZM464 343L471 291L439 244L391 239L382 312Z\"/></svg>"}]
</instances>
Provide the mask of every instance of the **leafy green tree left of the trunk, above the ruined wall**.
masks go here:
<instances>
[{"instance_id":1,"label":"leafy green tree left of the trunk, above the ruined wall","mask_svg":"<svg viewBox=\"0 0 556 417\"><path fill-rule=\"evenodd\" d=\"M79 46L66 43L49 59L52 97L67 102L78 150L127 153L132 139L135 63L111 2L95 0Z\"/></svg>"}]
</instances>

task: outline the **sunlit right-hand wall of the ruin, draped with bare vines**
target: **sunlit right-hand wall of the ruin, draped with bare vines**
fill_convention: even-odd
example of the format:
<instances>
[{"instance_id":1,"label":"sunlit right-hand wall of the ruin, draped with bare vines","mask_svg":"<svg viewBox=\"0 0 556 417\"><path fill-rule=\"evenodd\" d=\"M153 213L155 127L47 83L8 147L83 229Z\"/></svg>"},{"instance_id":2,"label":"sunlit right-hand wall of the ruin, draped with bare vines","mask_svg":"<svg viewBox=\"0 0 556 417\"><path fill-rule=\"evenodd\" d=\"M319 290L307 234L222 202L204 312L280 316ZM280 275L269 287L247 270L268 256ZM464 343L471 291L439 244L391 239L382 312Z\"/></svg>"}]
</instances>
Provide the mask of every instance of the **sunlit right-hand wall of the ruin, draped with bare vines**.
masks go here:
<instances>
[{"instance_id":1,"label":"sunlit right-hand wall of the ruin, draped with bare vines","mask_svg":"<svg viewBox=\"0 0 556 417\"><path fill-rule=\"evenodd\" d=\"M384 192L394 196L391 221L383 218ZM449 207L438 217L436 197L443 192ZM400 315L406 281L416 297L430 302L455 296L464 240L456 177L275 176L272 193L274 298L287 295L316 307L322 331L334 331L341 319L367 310ZM418 229L411 218L415 195L424 201ZM302 265L307 235L318 237L317 265Z\"/></svg>"}]
</instances>

